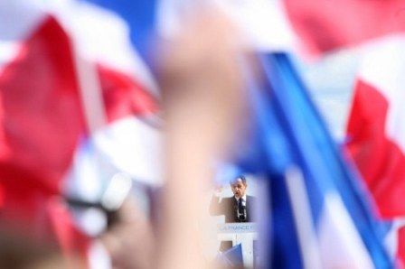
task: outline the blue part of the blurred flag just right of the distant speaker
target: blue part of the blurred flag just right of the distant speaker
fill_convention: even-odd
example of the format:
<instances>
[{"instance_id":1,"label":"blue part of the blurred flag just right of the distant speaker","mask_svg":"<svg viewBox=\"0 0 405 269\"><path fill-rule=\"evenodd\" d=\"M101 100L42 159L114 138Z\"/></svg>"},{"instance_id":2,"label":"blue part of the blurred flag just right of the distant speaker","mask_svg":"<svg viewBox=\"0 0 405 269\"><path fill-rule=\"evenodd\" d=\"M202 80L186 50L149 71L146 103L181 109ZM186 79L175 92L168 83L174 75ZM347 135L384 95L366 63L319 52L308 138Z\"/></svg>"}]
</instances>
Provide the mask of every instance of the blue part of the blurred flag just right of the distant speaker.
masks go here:
<instances>
[{"instance_id":1,"label":"blue part of the blurred flag just right of the distant speaker","mask_svg":"<svg viewBox=\"0 0 405 269\"><path fill-rule=\"evenodd\" d=\"M265 74L250 81L252 129L249 154L240 158L246 172L265 174L270 184L272 245L268 256L276 268L300 268L294 218L285 174L296 166L303 173L313 225L317 227L328 193L340 196L377 268L391 267L382 244L389 224L373 215L372 203L306 94L286 54L260 55ZM333 213L333 212L332 212Z\"/></svg>"}]
</instances>

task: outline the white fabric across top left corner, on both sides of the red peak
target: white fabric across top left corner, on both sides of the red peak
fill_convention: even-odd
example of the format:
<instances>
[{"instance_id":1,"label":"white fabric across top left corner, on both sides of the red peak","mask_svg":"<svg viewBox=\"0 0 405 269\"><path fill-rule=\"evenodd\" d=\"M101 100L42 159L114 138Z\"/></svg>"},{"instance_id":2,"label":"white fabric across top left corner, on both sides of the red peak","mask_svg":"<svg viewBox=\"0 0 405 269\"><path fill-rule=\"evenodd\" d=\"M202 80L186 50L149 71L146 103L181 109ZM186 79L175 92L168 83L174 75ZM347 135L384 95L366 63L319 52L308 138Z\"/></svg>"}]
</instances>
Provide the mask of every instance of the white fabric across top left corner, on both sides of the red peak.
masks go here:
<instances>
[{"instance_id":1,"label":"white fabric across top left corner, on both sides of the red peak","mask_svg":"<svg viewBox=\"0 0 405 269\"><path fill-rule=\"evenodd\" d=\"M74 0L0 1L0 71L50 14L80 43L81 57L133 76L159 96L155 79L131 45L127 23L106 9Z\"/></svg>"}]
</instances>

